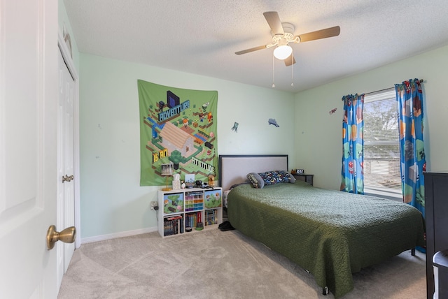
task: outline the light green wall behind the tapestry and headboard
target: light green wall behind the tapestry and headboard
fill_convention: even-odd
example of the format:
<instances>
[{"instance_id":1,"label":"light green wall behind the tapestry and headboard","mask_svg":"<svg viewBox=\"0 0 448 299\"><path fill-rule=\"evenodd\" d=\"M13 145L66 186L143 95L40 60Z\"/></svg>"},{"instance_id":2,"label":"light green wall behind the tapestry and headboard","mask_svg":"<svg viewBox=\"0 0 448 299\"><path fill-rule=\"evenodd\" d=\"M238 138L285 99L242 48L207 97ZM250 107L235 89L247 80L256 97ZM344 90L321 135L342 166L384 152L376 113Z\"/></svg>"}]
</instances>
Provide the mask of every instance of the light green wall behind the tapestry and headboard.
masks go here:
<instances>
[{"instance_id":1,"label":"light green wall behind the tapestry and headboard","mask_svg":"<svg viewBox=\"0 0 448 299\"><path fill-rule=\"evenodd\" d=\"M294 164L294 95L272 88L80 54L81 237L156 228L140 187L137 80L218 91L218 154L289 154ZM279 128L269 125L276 119ZM238 133L231 130L239 123Z\"/></svg>"}]
</instances>

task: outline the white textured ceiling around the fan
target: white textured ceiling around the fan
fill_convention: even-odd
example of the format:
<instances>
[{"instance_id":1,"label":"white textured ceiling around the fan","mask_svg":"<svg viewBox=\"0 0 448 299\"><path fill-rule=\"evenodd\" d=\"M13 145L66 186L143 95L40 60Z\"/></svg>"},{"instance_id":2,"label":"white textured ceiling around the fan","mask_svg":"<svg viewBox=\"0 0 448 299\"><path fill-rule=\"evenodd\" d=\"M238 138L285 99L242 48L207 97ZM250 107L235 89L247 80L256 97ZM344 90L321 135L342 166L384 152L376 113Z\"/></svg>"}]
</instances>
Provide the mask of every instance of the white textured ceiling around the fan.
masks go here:
<instances>
[{"instance_id":1,"label":"white textured ceiling around the fan","mask_svg":"<svg viewBox=\"0 0 448 299\"><path fill-rule=\"evenodd\" d=\"M64 0L78 50L299 92L448 44L448 1ZM337 37L292 44L293 69L273 48L265 11L294 34L339 25ZM293 78L292 78L293 77ZM291 86L293 82L293 87Z\"/></svg>"}]
</instances>

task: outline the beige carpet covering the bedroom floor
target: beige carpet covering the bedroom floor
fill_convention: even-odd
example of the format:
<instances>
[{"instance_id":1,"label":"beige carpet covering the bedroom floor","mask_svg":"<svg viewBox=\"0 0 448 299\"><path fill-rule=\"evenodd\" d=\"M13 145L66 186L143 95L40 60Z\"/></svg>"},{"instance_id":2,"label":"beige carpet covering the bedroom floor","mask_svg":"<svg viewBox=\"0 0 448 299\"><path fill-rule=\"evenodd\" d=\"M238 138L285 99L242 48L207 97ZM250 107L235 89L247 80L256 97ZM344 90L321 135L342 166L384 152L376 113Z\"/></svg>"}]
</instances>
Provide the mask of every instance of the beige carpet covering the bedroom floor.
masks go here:
<instances>
[{"instance_id":1,"label":"beige carpet covering the bedroom floor","mask_svg":"<svg viewBox=\"0 0 448 299\"><path fill-rule=\"evenodd\" d=\"M353 275L344 298L426 298L425 255L405 251ZM64 298L334 298L309 273L238 231L146 233L81 245Z\"/></svg>"}]
</instances>

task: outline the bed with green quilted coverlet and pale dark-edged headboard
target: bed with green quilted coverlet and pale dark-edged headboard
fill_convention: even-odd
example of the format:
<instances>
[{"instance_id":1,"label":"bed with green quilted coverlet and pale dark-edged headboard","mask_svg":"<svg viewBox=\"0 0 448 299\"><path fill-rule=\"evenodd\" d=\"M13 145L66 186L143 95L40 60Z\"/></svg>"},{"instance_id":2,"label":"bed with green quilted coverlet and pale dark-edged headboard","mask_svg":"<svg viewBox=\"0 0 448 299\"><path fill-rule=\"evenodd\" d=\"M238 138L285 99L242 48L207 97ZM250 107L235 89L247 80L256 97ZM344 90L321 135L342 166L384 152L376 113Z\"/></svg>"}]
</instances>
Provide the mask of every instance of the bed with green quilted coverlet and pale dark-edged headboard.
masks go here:
<instances>
[{"instance_id":1,"label":"bed with green quilted coverlet and pale dark-edged headboard","mask_svg":"<svg viewBox=\"0 0 448 299\"><path fill-rule=\"evenodd\" d=\"M423 217L405 203L299 180L262 189L246 182L248 173L287 169L286 155L220 156L228 219L244 235L309 271L335 298L353 289L353 272L424 246Z\"/></svg>"}]
</instances>

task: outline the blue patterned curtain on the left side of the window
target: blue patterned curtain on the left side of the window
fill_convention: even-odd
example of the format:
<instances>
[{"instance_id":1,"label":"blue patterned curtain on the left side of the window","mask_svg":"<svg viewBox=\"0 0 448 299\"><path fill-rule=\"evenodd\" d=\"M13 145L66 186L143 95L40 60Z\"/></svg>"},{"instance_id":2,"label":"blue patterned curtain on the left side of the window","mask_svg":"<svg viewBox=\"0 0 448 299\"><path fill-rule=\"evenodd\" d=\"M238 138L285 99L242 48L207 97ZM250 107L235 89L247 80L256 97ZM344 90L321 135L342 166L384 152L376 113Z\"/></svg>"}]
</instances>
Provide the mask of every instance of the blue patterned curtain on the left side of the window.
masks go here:
<instances>
[{"instance_id":1,"label":"blue patterned curtain on the left side of the window","mask_svg":"<svg viewBox=\"0 0 448 299\"><path fill-rule=\"evenodd\" d=\"M343 96L341 191L364 194L364 94Z\"/></svg>"}]
</instances>

